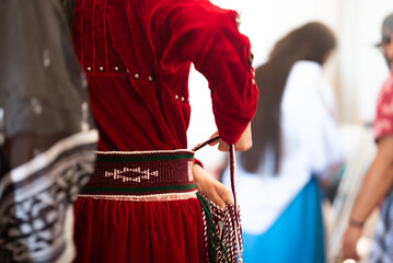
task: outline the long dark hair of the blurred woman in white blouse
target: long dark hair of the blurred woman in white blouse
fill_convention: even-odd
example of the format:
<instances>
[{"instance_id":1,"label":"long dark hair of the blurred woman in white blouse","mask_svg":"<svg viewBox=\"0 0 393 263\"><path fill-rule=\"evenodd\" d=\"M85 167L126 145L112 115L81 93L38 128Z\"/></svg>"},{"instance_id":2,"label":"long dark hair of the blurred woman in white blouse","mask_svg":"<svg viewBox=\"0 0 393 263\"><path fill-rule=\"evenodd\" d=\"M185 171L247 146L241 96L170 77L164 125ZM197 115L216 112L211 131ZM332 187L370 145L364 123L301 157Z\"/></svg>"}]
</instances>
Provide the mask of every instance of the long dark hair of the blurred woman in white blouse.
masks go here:
<instances>
[{"instance_id":1,"label":"long dark hair of the blurred woman in white blouse","mask_svg":"<svg viewBox=\"0 0 393 263\"><path fill-rule=\"evenodd\" d=\"M256 172L266 150L273 150L275 174L281 160L280 104L289 71L298 60L322 65L335 47L332 31L319 22L308 23L284 36L274 46L269 60L256 69L259 88L258 108L252 123L253 148L240 156L240 162L248 172Z\"/></svg>"}]
</instances>

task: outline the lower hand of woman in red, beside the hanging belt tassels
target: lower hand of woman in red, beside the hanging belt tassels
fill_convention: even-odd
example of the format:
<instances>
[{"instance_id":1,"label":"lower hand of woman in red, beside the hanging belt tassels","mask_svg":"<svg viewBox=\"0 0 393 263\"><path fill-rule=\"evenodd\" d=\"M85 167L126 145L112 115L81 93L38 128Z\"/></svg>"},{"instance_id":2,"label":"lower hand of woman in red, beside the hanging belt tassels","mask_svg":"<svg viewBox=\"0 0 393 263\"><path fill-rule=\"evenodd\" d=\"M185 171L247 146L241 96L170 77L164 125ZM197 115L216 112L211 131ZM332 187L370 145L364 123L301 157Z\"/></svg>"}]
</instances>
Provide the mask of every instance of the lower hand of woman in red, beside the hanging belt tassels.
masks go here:
<instances>
[{"instance_id":1,"label":"lower hand of woman in red, beside the hanging belt tassels","mask_svg":"<svg viewBox=\"0 0 393 263\"><path fill-rule=\"evenodd\" d=\"M221 208L226 207L226 203L232 201L231 191L222 183L211 178L199 164L193 165L193 174L198 192L208 199L216 203Z\"/></svg>"}]
</instances>

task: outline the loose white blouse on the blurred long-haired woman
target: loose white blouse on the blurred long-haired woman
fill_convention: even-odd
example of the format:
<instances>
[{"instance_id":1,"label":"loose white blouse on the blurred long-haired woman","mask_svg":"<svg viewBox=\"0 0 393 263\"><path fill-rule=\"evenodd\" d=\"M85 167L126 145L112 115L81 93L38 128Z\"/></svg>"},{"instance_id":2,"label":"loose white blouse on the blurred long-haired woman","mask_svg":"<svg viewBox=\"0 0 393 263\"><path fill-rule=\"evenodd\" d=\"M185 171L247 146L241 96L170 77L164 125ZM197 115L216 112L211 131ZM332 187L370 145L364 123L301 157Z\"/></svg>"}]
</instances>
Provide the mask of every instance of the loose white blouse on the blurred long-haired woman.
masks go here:
<instances>
[{"instance_id":1,"label":"loose white blouse on the blurred long-haired woman","mask_svg":"<svg viewBox=\"0 0 393 263\"><path fill-rule=\"evenodd\" d=\"M265 232L312 174L324 179L333 167L342 163L343 152L334 112L334 94L323 78L321 65L296 62L282 94L282 158L279 174L273 175L271 153L266 155L257 174L244 171L238 163L238 198L244 232ZM230 185L228 169L223 181Z\"/></svg>"}]
</instances>

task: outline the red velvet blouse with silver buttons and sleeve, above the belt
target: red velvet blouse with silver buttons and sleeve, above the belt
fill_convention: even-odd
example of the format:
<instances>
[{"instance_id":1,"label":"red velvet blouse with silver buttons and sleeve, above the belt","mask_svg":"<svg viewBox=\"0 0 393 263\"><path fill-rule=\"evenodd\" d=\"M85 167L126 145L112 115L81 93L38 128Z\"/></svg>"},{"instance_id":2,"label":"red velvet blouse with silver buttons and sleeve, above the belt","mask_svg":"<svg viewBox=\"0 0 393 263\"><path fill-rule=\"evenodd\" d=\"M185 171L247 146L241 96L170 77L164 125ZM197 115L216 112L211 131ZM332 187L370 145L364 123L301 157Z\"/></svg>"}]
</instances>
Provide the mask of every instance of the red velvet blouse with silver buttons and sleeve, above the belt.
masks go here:
<instances>
[{"instance_id":1,"label":"red velvet blouse with silver buttons and sleeve, above the belt","mask_svg":"<svg viewBox=\"0 0 393 263\"><path fill-rule=\"evenodd\" d=\"M187 148L192 61L209 80L221 138L235 142L257 96L250 42L235 15L206 0L76 1L72 36L89 79L99 149Z\"/></svg>"}]
</instances>

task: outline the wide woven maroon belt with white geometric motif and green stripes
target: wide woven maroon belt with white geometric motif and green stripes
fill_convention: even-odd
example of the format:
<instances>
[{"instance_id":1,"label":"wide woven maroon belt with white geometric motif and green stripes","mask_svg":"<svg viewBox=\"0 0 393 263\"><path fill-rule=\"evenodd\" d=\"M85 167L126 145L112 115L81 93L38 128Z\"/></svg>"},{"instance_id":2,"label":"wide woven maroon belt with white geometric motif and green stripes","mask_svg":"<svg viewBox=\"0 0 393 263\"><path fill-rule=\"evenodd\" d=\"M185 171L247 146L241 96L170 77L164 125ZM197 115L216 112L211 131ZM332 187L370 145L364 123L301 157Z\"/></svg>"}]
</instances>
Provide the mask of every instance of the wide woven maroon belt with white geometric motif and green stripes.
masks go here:
<instances>
[{"instance_id":1,"label":"wide woven maroon belt with white geometric motif and green stripes","mask_svg":"<svg viewBox=\"0 0 393 263\"><path fill-rule=\"evenodd\" d=\"M195 197L194 152L100 151L95 172L80 197L172 201Z\"/></svg>"}]
</instances>

